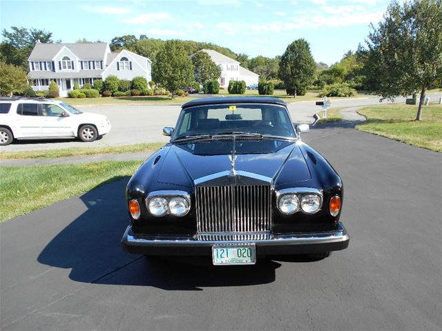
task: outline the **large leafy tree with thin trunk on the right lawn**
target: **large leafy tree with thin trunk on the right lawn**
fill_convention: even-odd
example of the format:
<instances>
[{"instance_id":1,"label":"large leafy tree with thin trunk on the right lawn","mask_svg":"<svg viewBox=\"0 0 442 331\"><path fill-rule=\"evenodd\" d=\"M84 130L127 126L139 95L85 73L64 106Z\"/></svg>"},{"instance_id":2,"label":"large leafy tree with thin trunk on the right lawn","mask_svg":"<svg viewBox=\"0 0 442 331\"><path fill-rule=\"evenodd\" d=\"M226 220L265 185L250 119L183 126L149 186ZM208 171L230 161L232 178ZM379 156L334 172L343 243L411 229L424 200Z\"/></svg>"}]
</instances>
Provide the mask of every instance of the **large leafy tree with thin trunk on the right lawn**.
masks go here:
<instances>
[{"instance_id":1,"label":"large leafy tree with thin trunk on the right lawn","mask_svg":"<svg viewBox=\"0 0 442 331\"><path fill-rule=\"evenodd\" d=\"M365 67L369 81L378 81L374 92L394 99L420 91L421 121L425 92L442 77L442 1L393 2L372 29Z\"/></svg>"}]
</instances>

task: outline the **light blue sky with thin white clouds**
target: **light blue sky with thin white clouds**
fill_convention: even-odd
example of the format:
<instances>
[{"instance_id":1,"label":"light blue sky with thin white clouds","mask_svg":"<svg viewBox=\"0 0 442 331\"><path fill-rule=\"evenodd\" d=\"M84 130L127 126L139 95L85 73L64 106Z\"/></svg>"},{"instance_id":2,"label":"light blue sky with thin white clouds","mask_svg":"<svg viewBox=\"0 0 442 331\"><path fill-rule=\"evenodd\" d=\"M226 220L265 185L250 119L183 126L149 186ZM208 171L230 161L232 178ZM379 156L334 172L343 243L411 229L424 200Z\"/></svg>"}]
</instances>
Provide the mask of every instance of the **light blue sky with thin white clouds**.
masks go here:
<instances>
[{"instance_id":1,"label":"light blue sky with thin white clouds","mask_svg":"<svg viewBox=\"0 0 442 331\"><path fill-rule=\"evenodd\" d=\"M249 57L281 55L304 38L315 61L332 64L365 44L390 1L5 1L0 28L37 28L52 39L111 42L124 34L208 41Z\"/></svg>"}]
</instances>

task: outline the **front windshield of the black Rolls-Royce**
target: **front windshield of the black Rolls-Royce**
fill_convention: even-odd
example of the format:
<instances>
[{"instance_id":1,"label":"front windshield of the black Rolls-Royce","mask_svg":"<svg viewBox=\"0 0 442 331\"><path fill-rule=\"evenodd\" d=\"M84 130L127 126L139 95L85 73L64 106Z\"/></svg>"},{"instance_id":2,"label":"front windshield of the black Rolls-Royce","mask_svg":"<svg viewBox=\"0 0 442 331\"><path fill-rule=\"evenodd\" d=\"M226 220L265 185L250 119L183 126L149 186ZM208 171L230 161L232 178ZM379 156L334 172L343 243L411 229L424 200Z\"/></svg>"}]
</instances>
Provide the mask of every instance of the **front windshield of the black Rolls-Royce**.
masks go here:
<instances>
[{"instance_id":1,"label":"front windshield of the black Rolls-Royce","mask_svg":"<svg viewBox=\"0 0 442 331\"><path fill-rule=\"evenodd\" d=\"M224 104L195 106L183 110L173 139L238 133L296 138L285 107L270 104Z\"/></svg>"}]
</instances>

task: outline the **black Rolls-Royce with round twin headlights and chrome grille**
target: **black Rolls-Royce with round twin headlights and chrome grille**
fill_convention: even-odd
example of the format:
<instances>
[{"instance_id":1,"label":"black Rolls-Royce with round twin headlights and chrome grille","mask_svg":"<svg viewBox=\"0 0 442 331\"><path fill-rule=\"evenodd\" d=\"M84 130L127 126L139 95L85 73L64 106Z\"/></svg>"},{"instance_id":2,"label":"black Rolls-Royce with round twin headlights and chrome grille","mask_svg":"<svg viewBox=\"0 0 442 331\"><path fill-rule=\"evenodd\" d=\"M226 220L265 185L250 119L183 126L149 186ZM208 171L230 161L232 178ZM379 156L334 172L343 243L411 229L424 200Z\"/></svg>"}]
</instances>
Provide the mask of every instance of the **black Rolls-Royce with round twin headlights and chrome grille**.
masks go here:
<instances>
[{"instance_id":1,"label":"black Rolls-Royce with round twin headlights and chrome grille","mask_svg":"<svg viewBox=\"0 0 442 331\"><path fill-rule=\"evenodd\" d=\"M138 168L126 189L127 252L201 255L214 265L257 257L343 250L343 183L300 139L287 104L270 97L185 103L171 140Z\"/></svg>"}]
</instances>

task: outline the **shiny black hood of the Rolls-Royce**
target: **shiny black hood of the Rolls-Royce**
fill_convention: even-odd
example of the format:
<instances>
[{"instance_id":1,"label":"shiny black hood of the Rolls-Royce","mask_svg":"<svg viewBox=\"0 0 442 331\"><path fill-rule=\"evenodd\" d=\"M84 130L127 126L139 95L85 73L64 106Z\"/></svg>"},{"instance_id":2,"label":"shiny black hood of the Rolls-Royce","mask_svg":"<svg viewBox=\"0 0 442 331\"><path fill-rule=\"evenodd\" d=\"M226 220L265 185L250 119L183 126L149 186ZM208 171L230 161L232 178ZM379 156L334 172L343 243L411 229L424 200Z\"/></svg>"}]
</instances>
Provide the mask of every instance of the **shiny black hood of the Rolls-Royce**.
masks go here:
<instances>
[{"instance_id":1,"label":"shiny black hood of the Rolls-Royce","mask_svg":"<svg viewBox=\"0 0 442 331\"><path fill-rule=\"evenodd\" d=\"M157 181L192 187L195 179L232 169L231 141L171 145ZM287 141L236 142L235 170L271 178L278 183L307 181L311 174L298 145Z\"/></svg>"}]
</instances>

